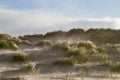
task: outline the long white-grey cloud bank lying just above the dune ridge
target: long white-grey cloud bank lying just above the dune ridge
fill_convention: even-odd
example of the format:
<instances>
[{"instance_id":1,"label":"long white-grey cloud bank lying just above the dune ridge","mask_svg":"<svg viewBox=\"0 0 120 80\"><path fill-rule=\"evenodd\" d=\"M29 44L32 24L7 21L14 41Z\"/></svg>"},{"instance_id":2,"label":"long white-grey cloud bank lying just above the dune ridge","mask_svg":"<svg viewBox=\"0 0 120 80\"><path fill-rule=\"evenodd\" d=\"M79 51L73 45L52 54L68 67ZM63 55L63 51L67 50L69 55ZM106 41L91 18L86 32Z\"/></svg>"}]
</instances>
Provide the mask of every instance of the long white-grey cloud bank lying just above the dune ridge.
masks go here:
<instances>
[{"instance_id":1,"label":"long white-grey cloud bank lying just above the dune ridge","mask_svg":"<svg viewBox=\"0 0 120 80\"><path fill-rule=\"evenodd\" d=\"M119 29L120 18L73 19L55 12L43 10L0 9L0 32L14 35L45 33L70 28L115 28Z\"/></svg>"}]
</instances>

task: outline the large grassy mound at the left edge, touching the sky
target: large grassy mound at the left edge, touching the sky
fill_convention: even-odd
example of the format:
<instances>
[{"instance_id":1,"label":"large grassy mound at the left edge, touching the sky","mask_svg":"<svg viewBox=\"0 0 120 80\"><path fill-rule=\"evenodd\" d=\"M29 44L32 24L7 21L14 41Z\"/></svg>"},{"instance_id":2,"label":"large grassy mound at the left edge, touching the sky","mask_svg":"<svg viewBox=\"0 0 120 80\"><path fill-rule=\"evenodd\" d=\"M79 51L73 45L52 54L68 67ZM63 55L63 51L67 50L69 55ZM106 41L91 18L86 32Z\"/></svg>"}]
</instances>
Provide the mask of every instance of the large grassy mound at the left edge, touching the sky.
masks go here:
<instances>
[{"instance_id":1,"label":"large grassy mound at the left edge, touching the sky","mask_svg":"<svg viewBox=\"0 0 120 80\"><path fill-rule=\"evenodd\" d=\"M8 34L0 34L0 48L17 50L18 44L30 44L28 41L19 39L18 37L11 37Z\"/></svg>"}]
</instances>

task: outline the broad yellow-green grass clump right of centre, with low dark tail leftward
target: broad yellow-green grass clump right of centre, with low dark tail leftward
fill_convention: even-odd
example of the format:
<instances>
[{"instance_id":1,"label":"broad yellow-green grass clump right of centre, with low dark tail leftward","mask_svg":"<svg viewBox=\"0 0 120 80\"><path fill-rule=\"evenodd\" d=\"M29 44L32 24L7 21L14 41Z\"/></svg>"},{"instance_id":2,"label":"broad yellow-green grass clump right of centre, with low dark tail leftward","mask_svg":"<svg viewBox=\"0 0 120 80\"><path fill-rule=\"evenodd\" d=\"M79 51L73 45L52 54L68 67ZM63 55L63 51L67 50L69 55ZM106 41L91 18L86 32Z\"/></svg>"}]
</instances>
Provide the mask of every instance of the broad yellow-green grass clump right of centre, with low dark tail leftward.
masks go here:
<instances>
[{"instance_id":1,"label":"broad yellow-green grass clump right of centre, with low dark tail leftward","mask_svg":"<svg viewBox=\"0 0 120 80\"><path fill-rule=\"evenodd\" d=\"M81 48L79 50L69 50L66 53L66 57L64 59L57 60L54 62L54 65L67 65L74 66L79 63L86 63L88 60L88 56L85 53L85 49Z\"/></svg>"}]
</instances>

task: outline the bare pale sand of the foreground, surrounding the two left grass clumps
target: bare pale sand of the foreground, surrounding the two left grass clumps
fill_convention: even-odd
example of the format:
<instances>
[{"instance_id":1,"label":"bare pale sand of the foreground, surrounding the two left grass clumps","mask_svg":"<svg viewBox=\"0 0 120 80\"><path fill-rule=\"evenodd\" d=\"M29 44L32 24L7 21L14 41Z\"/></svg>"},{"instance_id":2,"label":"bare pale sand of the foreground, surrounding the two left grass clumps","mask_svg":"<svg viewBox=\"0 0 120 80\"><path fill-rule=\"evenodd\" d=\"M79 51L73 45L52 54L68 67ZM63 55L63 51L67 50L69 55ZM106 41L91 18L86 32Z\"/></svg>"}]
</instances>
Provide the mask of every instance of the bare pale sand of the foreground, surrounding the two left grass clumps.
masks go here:
<instances>
[{"instance_id":1,"label":"bare pale sand of the foreground, surrounding the two left grass clumps","mask_svg":"<svg viewBox=\"0 0 120 80\"><path fill-rule=\"evenodd\" d=\"M19 69L20 64L12 63L13 54L24 51L31 57L31 63L39 70L37 74L26 75ZM51 65L54 61L64 56L62 51L48 48L22 48L19 51L0 50L0 73L4 77L21 76L26 80L120 80L120 75L112 74L107 67L99 64L89 63L91 70L84 70L83 65L74 67L55 67Z\"/></svg>"}]
</instances>

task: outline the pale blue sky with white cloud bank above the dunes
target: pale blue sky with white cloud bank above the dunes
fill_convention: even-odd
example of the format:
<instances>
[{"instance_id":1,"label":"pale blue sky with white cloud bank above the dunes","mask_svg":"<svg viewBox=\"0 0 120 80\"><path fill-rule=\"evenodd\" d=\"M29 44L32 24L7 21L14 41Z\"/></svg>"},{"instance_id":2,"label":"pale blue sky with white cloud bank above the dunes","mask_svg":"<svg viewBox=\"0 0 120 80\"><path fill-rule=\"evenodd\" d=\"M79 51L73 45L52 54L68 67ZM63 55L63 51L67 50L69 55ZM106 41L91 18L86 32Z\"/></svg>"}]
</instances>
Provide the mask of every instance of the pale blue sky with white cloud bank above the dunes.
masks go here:
<instances>
[{"instance_id":1,"label":"pale blue sky with white cloud bank above the dunes","mask_svg":"<svg viewBox=\"0 0 120 80\"><path fill-rule=\"evenodd\" d=\"M120 0L0 0L0 33L120 29Z\"/></svg>"}]
</instances>

